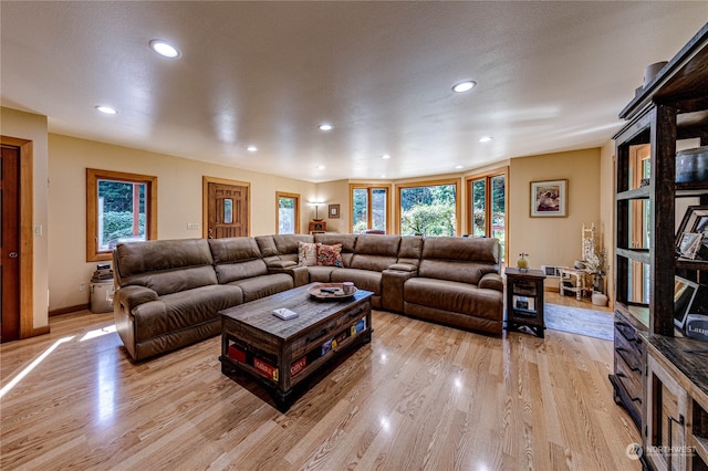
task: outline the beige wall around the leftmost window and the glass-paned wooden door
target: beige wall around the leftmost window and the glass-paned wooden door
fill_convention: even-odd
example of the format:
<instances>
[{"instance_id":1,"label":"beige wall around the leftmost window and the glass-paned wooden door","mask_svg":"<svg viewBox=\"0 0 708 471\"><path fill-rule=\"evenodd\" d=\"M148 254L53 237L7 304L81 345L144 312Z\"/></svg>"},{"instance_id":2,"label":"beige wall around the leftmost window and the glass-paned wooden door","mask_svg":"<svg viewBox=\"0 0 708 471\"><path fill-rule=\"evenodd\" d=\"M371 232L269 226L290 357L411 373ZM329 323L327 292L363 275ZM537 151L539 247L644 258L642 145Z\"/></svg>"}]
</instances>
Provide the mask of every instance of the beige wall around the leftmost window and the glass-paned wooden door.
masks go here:
<instances>
[{"instance_id":1,"label":"beige wall around the leftmost window and the glass-paned wooden door","mask_svg":"<svg viewBox=\"0 0 708 471\"><path fill-rule=\"evenodd\" d=\"M314 200L315 184L200 163L168 155L92 140L49 135L50 223L49 308L88 303L88 283L95 262L86 262L86 168L157 177L157 237L201 237L201 178L226 178L251 184L251 236L275 233L275 192L299 193L301 202ZM309 208L301 209L301 230L306 231ZM187 223L199 230L187 230Z\"/></svg>"}]
</instances>

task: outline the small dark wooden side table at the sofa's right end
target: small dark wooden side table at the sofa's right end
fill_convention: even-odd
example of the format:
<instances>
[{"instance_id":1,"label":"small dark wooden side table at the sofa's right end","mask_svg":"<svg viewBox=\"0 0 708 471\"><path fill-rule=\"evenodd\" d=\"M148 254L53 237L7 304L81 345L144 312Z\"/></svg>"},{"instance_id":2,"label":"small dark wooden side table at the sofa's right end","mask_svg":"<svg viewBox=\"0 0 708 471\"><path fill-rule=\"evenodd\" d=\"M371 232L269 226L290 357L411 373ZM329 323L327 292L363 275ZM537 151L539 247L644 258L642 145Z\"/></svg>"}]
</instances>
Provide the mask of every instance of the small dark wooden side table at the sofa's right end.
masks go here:
<instances>
[{"instance_id":1,"label":"small dark wooden side table at the sofa's right end","mask_svg":"<svg viewBox=\"0 0 708 471\"><path fill-rule=\"evenodd\" d=\"M543 280L541 270L508 268L507 274L507 329L527 326L543 338Z\"/></svg>"}]
</instances>

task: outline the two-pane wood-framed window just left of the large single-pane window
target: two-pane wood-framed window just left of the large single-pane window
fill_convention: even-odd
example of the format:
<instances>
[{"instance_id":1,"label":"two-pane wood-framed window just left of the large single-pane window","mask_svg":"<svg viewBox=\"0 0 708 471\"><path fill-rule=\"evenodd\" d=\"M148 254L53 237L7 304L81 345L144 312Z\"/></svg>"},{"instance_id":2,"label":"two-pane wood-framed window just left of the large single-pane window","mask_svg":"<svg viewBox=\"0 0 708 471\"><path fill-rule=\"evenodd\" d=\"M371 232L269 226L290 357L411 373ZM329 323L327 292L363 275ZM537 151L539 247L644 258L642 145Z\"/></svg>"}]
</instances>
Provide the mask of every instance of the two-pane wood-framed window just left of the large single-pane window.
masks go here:
<instances>
[{"instance_id":1,"label":"two-pane wood-framed window just left of the large single-pane window","mask_svg":"<svg viewBox=\"0 0 708 471\"><path fill-rule=\"evenodd\" d=\"M350 185L352 222L351 232L367 229L388 232L389 196L387 186Z\"/></svg>"}]
</instances>

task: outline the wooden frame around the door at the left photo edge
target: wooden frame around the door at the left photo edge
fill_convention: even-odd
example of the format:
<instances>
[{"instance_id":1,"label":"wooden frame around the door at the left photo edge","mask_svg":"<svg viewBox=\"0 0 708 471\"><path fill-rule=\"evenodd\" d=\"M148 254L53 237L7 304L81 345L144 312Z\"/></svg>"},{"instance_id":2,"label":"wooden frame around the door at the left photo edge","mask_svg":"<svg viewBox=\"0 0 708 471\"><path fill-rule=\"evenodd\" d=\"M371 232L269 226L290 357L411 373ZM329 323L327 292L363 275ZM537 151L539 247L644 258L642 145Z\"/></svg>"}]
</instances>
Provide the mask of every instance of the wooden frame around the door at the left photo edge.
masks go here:
<instances>
[{"instance_id":1,"label":"wooden frame around the door at the left photo edge","mask_svg":"<svg viewBox=\"0 0 708 471\"><path fill-rule=\"evenodd\" d=\"M20 148L20 338L27 338L34 335L33 146L31 140L2 135L0 143Z\"/></svg>"}]
</instances>

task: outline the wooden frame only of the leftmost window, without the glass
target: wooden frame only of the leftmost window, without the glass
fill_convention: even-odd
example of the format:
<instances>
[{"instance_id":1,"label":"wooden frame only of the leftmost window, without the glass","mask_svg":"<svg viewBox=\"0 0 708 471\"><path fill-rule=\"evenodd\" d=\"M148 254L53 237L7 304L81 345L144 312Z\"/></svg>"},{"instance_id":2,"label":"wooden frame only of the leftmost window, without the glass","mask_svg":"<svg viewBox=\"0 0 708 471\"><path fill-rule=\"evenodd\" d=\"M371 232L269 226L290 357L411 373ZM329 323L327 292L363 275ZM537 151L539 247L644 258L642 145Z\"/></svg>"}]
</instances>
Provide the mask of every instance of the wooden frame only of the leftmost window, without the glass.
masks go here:
<instances>
[{"instance_id":1,"label":"wooden frame only of the leftmost window, without the glass","mask_svg":"<svg viewBox=\"0 0 708 471\"><path fill-rule=\"evenodd\" d=\"M86 261L103 262L113 258L112 250L98 250L98 180L144 184L145 237L157 239L157 177L123 171L86 168Z\"/></svg>"}]
</instances>

